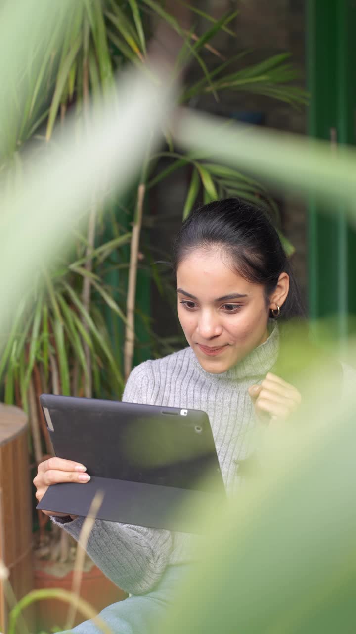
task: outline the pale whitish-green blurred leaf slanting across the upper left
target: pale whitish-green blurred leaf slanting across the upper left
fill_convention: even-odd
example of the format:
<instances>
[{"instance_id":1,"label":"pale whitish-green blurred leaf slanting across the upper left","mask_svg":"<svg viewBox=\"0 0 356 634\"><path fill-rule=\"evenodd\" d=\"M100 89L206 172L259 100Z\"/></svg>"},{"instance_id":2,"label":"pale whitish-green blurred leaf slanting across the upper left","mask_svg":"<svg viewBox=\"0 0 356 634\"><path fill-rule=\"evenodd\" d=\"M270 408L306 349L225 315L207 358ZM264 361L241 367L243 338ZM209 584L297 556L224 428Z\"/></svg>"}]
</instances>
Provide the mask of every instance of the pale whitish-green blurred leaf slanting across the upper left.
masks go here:
<instances>
[{"instance_id":1,"label":"pale whitish-green blurred leaf slanting across the upper left","mask_svg":"<svg viewBox=\"0 0 356 634\"><path fill-rule=\"evenodd\" d=\"M121 78L120 89L92 113L90 133L66 124L41 157L25 165L16 191L2 188L1 320L10 317L34 271L67 247L70 229L89 213L92 197L104 197L110 186L122 191L137 173L169 111L170 91L163 84L164 75L156 86L139 73ZM11 277L4 275L9 270Z\"/></svg>"}]
</instances>

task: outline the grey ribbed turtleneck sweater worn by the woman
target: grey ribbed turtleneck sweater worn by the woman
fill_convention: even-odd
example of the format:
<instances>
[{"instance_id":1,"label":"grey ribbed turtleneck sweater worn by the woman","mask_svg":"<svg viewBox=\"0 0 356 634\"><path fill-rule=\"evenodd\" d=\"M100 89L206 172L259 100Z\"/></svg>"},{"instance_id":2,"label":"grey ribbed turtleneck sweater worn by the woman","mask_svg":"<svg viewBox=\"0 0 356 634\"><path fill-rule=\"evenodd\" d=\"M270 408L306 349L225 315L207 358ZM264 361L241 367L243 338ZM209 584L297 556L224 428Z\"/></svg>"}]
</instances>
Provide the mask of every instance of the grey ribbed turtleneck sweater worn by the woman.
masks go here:
<instances>
[{"instance_id":1,"label":"grey ribbed turtleneck sweater worn by the woman","mask_svg":"<svg viewBox=\"0 0 356 634\"><path fill-rule=\"evenodd\" d=\"M227 493L239 486L236 462L248 455L248 432L253 428L253 406L248 388L261 382L276 363L279 333L243 361L222 374L201 368L188 347L163 359L145 361L132 370L123 401L164 405L207 412ZM55 520L54 520L55 521ZM61 522L78 540L84 519ZM87 552L120 588L133 595L149 592L170 564L186 562L194 538L181 533L96 520Z\"/></svg>"}]
</instances>

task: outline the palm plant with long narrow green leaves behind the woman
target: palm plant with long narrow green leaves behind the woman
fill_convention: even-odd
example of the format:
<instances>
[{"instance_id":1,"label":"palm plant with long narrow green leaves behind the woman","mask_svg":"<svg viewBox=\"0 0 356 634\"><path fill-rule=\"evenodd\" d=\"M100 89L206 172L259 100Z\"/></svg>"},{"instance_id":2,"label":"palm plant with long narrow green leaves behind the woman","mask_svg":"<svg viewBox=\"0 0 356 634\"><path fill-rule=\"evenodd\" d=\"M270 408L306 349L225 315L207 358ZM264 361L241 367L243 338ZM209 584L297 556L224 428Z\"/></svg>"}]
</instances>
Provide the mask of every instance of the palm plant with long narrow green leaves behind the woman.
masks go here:
<instances>
[{"instance_id":1,"label":"palm plant with long narrow green leaves behind the woman","mask_svg":"<svg viewBox=\"0 0 356 634\"><path fill-rule=\"evenodd\" d=\"M9 126L1 133L0 172L4 178L8 165L14 163L21 178L22 152L29 141L32 151L46 151L55 124L63 122L68 112L77 117L78 126L90 129L91 108L105 98L120 69L134 64L150 72L146 65L147 39L157 19L181 37L175 74L181 75L188 63L200 69L198 81L183 81L179 103L190 103L205 93L219 98L225 90L257 92L293 105L305 103L305 93L291 85L296 74L287 53L248 65L248 51L225 59L213 47L213 37L221 30L236 37L231 30L236 12L215 20L189 5L188 15L189 29L181 26L174 10L168 11L154 0L80 0L69 9L57 4L53 23L44 30L44 41L41 46L33 42L29 65L16 77L25 98L16 104ZM200 35L196 34L195 18L207 25ZM257 181L213 162L207 154L182 152L175 146L170 130L164 133L166 147L161 152L147 148L143 171L127 193L125 204L113 201L104 217L99 196L93 200L86 227L75 230L75 246L52 269L38 272L18 306L11 332L1 333L0 385L4 401L17 403L29 412L36 463L44 451L50 452L37 402L41 392L120 396L136 344L139 240L150 191L173 172L190 166L183 217L188 216L201 192L205 202L224 195L258 199L266 212L276 216L272 199ZM162 170L163 158L170 164ZM105 218L109 218L110 235ZM114 269L121 273L119 288L105 283L108 272ZM112 351L105 311L126 329L124 359Z\"/></svg>"}]
</instances>

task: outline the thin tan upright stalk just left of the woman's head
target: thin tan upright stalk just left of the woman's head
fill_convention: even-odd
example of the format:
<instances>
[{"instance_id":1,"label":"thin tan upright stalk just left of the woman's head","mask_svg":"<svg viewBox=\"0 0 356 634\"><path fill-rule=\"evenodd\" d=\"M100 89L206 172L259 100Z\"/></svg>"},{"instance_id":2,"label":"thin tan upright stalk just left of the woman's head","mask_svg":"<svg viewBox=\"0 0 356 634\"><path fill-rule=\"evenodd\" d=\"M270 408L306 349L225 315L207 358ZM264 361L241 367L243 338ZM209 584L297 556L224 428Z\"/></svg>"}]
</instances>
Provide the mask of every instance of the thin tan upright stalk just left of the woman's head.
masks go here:
<instances>
[{"instance_id":1,"label":"thin tan upright stalk just left of the woman's head","mask_svg":"<svg viewBox=\"0 0 356 634\"><path fill-rule=\"evenodd\" d=\"M125 349L124 349L124 372L125 380L129 377L134 358L135 347L135 303L136 303L136 283L137 283L137 261L139 254L139 238L142 226L143 203L146 193L146 184L140 183L137 190L137 207L134 223L132 226L130 245L130 266L129 281L127 286L126 301L126 329L125 329Z\"/></svg>"}]
</instances>

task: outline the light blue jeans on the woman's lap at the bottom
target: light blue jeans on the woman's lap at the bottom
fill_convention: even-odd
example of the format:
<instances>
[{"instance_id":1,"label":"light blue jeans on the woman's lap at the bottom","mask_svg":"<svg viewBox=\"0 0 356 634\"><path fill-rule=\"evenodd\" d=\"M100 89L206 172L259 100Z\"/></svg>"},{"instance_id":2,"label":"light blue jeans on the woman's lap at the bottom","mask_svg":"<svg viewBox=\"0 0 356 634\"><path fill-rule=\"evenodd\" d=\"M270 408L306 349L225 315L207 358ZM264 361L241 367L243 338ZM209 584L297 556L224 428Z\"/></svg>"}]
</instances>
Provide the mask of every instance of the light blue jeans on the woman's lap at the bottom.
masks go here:
<instances>
[{"instance_id":1,"label":"light blue jeans on the woman's lap at the bottom","mask_svg":"<svg viewBox=\"0 0 356 634\"><path fill-rule=\"evenodd\" d=\"M189 566L168 566L160 583L146 595L129 597L108 605L99 616L110 627L113 634L156 634L157 624L164 618L174 602L176 588L188 574ZM61 634L99 634L101 630L93 621L84 621L73 630Z\"/></svg>"}]
</instances>

